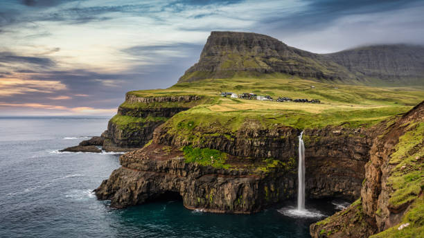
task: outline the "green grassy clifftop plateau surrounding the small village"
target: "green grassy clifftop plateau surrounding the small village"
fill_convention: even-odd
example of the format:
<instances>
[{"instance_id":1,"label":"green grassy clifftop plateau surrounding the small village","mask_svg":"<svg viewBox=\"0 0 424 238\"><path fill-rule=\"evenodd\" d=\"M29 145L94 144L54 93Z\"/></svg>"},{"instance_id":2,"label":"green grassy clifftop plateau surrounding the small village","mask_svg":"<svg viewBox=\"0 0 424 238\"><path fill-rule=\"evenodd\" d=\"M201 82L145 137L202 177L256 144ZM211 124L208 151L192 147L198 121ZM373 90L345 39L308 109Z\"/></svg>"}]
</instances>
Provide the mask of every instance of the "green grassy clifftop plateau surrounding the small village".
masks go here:
<instances>
[{"instance_id":1,"label":"green grassy clifftop plateau surrounding the small village","mask_svg":"<svg viewBox=\"0 0 424 238\"><path fill-rule=\"evenodd\" d=\"M278 78L271 78L278 77ZM315 86L315 88L311 88ZM256 93L290 98L319 99L320 104L302 102L270 102L220 97L220 92ZM389 116L403 113L421 102L424 91L410 88L378 88L326 84L301 80L287 75L270 75L267 80L257 78L202 80L195 83L178 83L168 89L132 91L137 97L164 95L201 95L198 102L166 102L166 107L192 107L173 116L167 123L193 121L193 125L206 126L213 122L236 131L242 122L257 120L264 127L287 125L299 129L340 125L358 127L373 125ZM125 102L124 107L156 107L164 103L136 104ZM177 128L177 127L175 127Z\"/></svg>"}]
</instances>

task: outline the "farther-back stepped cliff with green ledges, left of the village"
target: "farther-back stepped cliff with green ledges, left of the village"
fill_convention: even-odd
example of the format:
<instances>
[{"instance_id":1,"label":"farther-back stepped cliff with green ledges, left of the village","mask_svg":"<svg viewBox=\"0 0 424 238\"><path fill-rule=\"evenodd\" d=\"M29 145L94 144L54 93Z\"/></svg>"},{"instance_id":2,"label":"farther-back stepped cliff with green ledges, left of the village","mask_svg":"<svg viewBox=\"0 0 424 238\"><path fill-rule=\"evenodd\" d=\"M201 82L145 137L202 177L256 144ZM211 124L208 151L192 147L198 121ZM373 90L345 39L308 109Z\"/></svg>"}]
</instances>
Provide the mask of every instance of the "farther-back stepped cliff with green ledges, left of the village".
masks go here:
<instances>
[{"instance_id":1,"label":"farther-back stepped cliff with green ledges, left of the village","mask_svg":"<svg viewBox=\"0 0 424 238\"><path fill-rule=\"evenodd\" d=\"M201 99L198 95L139 97L127 93L125 102L118 107L117 115L109 120L107 131L102 134L104 149L130 151L143 147L152 139L154 129Z\"/></svg>"}]
</instances>

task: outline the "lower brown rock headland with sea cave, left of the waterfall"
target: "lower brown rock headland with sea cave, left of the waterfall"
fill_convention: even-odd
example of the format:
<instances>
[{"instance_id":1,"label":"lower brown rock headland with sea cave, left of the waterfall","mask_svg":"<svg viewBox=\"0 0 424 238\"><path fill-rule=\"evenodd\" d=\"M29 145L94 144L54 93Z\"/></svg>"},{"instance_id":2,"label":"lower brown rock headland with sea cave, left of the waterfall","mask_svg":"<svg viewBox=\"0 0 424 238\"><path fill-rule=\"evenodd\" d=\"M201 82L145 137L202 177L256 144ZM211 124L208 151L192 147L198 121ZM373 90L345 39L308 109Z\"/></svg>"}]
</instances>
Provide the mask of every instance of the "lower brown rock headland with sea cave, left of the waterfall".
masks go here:
<instances>
[{"instance_id":1,"label":"lower brown rock headland with sea cave, left of the waterfall","mask_svg":"<svg viewBox=\"0 0 424 238\"><path fill-rule=\"evenodd\" d=\"M252 213L295 193L294 176L283 172L283 167L267 174L241 167L219 169L186 163L178 153L169 156L161 147L152 147L121 156L122 167L95 190L98 199L110 199L112 207L125 208L177 195L189 209ZM152 150L155 154L146 156Z\"/></svg>"}]
</instances>

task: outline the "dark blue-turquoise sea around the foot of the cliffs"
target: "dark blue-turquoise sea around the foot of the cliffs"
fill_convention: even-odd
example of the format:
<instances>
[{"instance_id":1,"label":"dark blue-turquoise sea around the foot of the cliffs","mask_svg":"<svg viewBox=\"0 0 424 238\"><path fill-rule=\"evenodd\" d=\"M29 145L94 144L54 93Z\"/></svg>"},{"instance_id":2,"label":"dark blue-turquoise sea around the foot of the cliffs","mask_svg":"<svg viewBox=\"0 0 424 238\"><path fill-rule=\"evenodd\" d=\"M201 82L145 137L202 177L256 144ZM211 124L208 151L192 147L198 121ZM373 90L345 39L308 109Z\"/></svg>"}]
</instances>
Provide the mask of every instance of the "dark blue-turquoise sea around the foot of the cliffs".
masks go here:
<instances>
[{"instance_id":1,"label":"dark blue-turquoise sea around the foot of the cliffs","mask_svg":"<svg viewBox=\"0 0 424 238\"><path fill-rule=\"evenodd\" d=\"M310 237L318 220L277 205L252 215L187 210L182 201L109 208L91 191L119 167L119 154L58 150L97 136L108 118L0 118L0 237ZM321 214L332 201L306 201Z\"/></svg>"}]
</instances>

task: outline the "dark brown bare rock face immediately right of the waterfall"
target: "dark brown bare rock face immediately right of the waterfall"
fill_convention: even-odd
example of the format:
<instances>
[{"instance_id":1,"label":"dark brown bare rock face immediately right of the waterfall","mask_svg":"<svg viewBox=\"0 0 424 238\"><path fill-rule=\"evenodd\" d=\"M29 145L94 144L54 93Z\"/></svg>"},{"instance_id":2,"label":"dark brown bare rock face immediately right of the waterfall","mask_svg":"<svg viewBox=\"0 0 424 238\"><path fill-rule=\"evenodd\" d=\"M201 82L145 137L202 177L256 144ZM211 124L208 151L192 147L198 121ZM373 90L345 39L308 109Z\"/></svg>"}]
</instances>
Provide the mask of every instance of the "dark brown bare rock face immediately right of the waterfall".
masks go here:
<instances>
[{"instance_id":1,"label":"dark brown bare rock face immediately right of the waterfall","mask_svg":"<svg viewBox=\"0 0 424 238\"><path fill-rule=\"evenodd\" d=\"M357 199L376 135L376 128L306 129L303 141L308 174L306 191L310 198Z\"/></svg>"}]
</instances>

